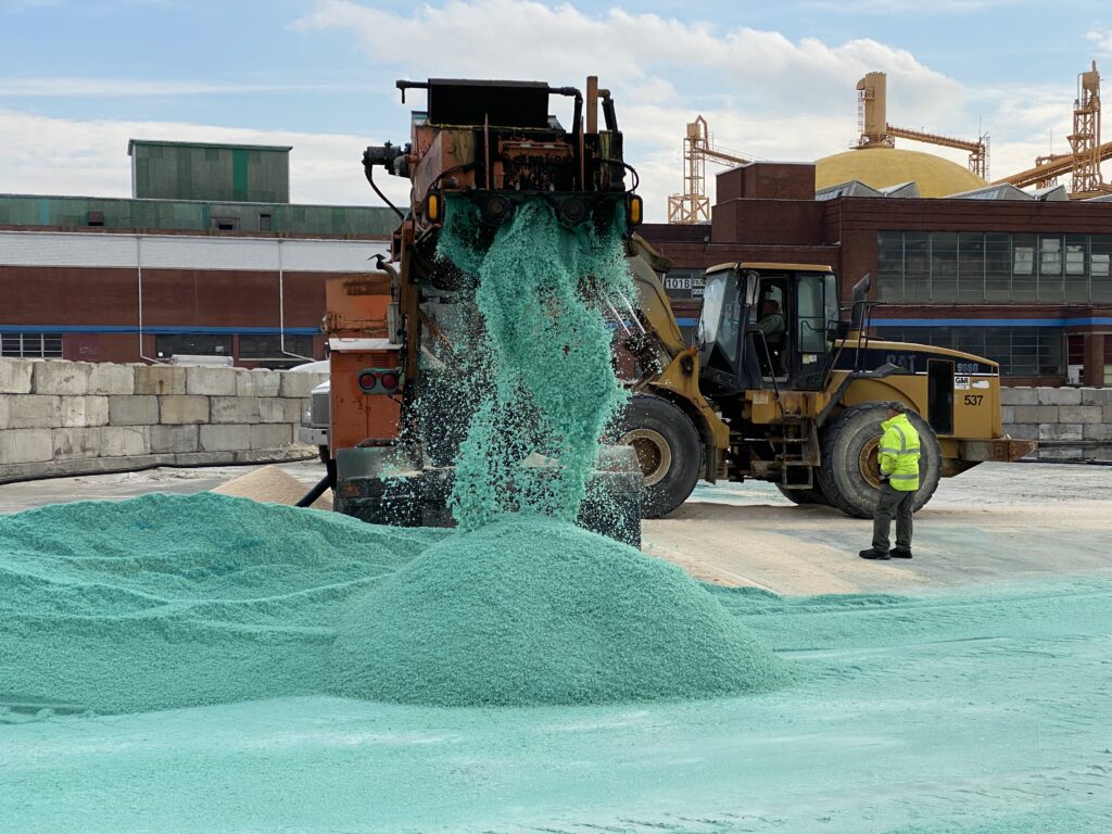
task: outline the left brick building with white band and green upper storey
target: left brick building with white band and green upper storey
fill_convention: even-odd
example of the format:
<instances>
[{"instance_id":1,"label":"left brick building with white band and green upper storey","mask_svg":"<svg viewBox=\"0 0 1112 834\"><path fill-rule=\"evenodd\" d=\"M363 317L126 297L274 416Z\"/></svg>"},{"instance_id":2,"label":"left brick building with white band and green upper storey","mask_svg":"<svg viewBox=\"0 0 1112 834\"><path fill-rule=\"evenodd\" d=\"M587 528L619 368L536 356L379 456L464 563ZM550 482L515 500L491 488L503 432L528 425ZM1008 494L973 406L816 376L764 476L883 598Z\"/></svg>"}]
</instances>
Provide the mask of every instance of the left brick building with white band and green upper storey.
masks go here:
<instances>
[{"instance_id":1,"label":"left brick building with white band and green upper storey","mask_svg":"<svg viewBox=\"0 0 1112 834\"><path fill-rule=\"evenodd\" d=\"M132 141L131 199L0 195L0 356L322 358L325 279L397 216L290 203L289 150Z\"/></svg>"}]
</instances>

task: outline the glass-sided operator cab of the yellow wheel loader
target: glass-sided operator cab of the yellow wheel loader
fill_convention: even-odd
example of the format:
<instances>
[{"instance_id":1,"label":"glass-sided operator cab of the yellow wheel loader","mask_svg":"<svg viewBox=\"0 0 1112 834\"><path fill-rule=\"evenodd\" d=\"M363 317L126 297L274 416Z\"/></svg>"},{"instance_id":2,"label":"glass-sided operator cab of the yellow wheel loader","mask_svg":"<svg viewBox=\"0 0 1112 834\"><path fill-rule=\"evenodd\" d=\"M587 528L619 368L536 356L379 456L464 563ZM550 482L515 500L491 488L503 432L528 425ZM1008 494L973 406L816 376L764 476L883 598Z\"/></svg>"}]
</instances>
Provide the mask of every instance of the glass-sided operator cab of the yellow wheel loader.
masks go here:
<instances>
[{"instance_id":1,"label":"glass-sided operator cab of the yellow wheel loader","mask_svg":"<svg viewBox=\"0 0 1112 834\"><path fill-rule=\"evenodd\" d=\"M828 267L724 264L705 281L696 342L708 390L823 388L840 318Z\"/></svg>"}]
</instances>

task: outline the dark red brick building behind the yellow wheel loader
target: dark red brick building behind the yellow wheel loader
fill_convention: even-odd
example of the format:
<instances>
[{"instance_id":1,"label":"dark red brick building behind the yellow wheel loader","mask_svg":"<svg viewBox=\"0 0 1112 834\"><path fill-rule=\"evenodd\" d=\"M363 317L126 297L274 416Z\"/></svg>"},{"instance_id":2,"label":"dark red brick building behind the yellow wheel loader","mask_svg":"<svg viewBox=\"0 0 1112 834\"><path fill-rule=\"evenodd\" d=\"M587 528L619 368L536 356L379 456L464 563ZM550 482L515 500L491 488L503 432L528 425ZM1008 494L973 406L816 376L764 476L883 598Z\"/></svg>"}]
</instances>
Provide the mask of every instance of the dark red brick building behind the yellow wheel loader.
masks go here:
<instances>
[{"instance_id":1,"label":"dark red brick building behind the yellow wheel loader","mask_svg":"<svg viewBox=\"0 0 1112 834\"><path fill-rule=\"evenodd\" d=\"M1112 201L1010 186L941 199L911 182L814 187L813 165L756 162L718 175L709 225L643 227L673 261L681 325L695 322L708 266L827 264L843 299L872 276L877 336L986 356L1012 385L1112 385Z\"/></svg>"}]
</instances>

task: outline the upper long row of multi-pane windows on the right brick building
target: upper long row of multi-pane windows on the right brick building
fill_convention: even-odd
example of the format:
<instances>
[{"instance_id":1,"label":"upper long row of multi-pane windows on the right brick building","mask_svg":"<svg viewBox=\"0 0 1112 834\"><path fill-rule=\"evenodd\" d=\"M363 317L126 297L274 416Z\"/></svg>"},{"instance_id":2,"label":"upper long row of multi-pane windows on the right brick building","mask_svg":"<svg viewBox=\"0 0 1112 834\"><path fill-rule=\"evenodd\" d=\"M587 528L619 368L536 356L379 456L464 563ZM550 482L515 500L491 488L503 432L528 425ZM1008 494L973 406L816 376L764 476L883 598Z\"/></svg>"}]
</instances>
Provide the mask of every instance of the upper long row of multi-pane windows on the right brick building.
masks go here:
<instances>
[{"instance_id":1,"label":"upper long row of multi-pane windows on the right brick building","mask_svg":"<svg viewBox=\"0 0 1112 834\"><path fill-rule=\"evenodd\" d=\"M880 231L882 301L1112 301L1112 235Z\"/></svg>"}]
</instances>

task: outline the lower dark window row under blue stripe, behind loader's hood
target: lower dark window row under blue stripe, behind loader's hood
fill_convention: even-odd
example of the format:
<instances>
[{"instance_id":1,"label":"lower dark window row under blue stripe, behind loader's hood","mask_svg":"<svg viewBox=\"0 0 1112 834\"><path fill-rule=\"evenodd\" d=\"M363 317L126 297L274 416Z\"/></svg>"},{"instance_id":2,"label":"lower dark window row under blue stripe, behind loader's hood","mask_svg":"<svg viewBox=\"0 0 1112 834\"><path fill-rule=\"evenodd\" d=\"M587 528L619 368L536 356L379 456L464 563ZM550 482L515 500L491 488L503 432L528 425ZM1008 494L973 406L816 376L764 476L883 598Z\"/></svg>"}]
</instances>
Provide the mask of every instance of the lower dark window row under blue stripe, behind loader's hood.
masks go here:
<instances>
[{"instance_id":1,"label":"lower dark window row under blue stripe, behind loader's hood","mask_svg":"<svg viewBox=\"0 0 1112 834\"><path fill-rule=\"evenodd\" d=\"M932 345L983 356L1002 376L1064 377L1065 338L1058 327L876 327L893 341Z\"/></svg>"}]
</instances>

